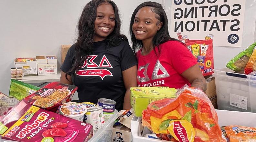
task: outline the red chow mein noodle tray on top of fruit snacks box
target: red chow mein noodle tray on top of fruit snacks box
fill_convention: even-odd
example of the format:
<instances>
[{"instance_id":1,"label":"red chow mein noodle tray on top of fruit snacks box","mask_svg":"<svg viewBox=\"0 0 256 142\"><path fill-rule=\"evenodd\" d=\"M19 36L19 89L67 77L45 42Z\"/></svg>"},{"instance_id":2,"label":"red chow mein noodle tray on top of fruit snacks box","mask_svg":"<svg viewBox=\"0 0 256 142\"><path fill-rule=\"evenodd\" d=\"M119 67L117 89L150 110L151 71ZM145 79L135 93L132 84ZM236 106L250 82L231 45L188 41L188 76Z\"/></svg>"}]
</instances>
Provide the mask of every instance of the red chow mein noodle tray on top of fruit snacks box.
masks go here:
<instances>
[{"instance_id":1,"label":"red chow mein noodle tray on top of fruit snacks box","mask_svg":"<svg viewBox=\"0 0 256 142\"><path fill-rule=\"evenodd\" d=\"M72 100L77 86L52 82L25 98L30 104L55 112L58 106Z\"/></svg>"}]
</instances>

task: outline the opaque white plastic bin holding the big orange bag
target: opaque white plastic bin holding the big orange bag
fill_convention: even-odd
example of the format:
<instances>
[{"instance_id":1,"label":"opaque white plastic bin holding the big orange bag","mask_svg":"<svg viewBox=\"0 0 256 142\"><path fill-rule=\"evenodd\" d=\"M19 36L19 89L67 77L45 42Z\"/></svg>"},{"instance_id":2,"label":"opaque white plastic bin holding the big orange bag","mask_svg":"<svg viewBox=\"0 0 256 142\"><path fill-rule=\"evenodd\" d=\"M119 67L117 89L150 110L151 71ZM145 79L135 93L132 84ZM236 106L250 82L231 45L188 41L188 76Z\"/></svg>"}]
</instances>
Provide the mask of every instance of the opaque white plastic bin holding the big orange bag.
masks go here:
<instances>
[{"instance_id":1,"label":"opaque white plastic bin holding the big orange bag","mask_svg":"<svg viewBox=\"0 0 256 142\"><path fill-rule=\"evenodd\" d=\"M256 113L250 112L237 112L237 111L227 111L227 110L216 110L219 118L219 126L229 126L229 125L240 125L247 127L256 127L255 119ZM139 123L141 117L133 117L131 122L131 135L134 142L169 142L165 140L152 139L143 137L145 134L151 134L152 132L144 127L143 134L139 130Z\"/></svg>"}]
</instances>

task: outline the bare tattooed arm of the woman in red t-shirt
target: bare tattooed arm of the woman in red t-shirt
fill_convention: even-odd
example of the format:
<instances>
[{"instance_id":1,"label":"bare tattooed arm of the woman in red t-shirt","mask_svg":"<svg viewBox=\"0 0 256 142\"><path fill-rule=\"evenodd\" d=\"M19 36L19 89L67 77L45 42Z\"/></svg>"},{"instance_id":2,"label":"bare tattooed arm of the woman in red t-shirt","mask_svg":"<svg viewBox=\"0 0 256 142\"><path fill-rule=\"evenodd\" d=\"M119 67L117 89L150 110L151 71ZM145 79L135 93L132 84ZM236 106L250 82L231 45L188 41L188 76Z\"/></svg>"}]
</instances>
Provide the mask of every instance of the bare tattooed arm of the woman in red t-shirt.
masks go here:
<instances>
[{"instance_id":1,"label":"bare tattooed arm of the woman in red t-shirt","mask_svg":"<svg viewBox=\"0 0 256 142\"><path fill-rule=\"evenodd\" d=\"M204 92L206 91L207 89L206 80L202 75L198 65L194 65L190 67L185 72L183 72L181 76L186 78L190 82L192 87L200 88Z\"/></svg>"}]
</instances>

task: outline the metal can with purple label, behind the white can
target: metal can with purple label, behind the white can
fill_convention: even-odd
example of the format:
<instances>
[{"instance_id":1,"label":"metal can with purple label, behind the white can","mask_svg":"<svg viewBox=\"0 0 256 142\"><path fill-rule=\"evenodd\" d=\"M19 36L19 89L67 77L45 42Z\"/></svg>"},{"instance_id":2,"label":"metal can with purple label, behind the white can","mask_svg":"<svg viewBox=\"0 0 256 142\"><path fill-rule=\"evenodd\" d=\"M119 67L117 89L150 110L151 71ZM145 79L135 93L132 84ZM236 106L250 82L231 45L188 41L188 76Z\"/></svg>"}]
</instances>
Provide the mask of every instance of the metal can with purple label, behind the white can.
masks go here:
<instances>
[{"instance_id":1,"label":"metal can with purple label, behind the white can","mask_svg":"<svg viewBox=\"0 0 256 142\"><path fill-rule=\"evenodd\" d=\"M105 122L107 122L115 112L116 102L111 99L100 98L97 106L103 107Z\"/></svg>"}]
</instances>

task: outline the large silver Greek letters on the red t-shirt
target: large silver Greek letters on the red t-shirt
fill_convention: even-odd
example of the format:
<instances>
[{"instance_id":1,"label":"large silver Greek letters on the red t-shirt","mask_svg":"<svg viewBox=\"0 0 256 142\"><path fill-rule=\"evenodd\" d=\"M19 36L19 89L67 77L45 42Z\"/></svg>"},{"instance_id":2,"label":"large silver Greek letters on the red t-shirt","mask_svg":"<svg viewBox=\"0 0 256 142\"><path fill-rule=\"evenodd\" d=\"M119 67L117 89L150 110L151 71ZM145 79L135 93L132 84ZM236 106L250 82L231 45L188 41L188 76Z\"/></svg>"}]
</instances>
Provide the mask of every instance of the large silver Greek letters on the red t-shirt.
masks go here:
<instances>
[{"instance_id":1,"label":"large silver Greek letters on the red t-shirt","mask_svg":"<svg viewBox=\"0 0 256 142\"><path fill-rule=\"evenodd\" d=\"M149 77L148 77L148 74L147 74L148 66L149 66L149 63L144 65L144 66L139 66L138 71L141 71L142 69L145 69L143 71L143 75L145 77L137 76L138 82L142 83L142 82L147 82L147 81L150 80ZM163 72L163 74L158 75L159 70L161 70ZM152 80L166 78L166 77L169 77L169 76L170 75L168 74L167 70L164 68L164 66L162 66L160 61L157 60L157 62L155 64L155 67L154 67L154 70L153 70L153 73L152 73L152 76L151 76Z\"/></svg>"}]
</instances>

